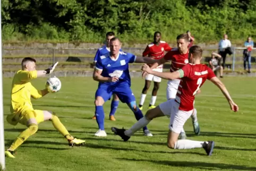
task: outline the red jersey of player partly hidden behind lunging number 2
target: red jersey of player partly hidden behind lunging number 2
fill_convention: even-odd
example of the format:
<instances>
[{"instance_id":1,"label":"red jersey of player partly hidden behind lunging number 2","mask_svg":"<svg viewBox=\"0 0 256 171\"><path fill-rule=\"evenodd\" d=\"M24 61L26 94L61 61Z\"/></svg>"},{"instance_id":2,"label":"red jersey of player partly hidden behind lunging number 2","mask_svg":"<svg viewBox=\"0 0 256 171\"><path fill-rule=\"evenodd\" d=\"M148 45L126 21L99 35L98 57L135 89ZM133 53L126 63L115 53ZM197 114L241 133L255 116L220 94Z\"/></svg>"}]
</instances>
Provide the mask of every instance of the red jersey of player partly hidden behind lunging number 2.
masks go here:
<instances>
[{"instance_id":1,"label":"red jersey of player partly hidden behind lunging number 2","mask_svg":"<svg viewBox=\"0 0 256 171\"><path fill-rule=\"evenodd\" d=\"M180 51L175 48L165 54L164 58L165 61L172 61L172 64L170 64L170 72L175 72L189 63L189 52L181 54Z\"/></svg>"}]
</instances>

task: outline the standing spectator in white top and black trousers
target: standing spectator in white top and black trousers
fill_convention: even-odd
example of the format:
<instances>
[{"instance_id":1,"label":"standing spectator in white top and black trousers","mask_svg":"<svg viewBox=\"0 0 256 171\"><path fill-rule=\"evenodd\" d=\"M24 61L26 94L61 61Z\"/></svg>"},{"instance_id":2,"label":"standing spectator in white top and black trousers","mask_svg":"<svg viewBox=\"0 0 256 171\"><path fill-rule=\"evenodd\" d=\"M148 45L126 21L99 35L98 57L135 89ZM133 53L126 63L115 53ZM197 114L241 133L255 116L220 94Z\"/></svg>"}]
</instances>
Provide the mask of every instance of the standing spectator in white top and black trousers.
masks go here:
<instances>
[{"instance_id":1,"label":"standing spectator in white top and black trousers","mask_svg":"<svg viewBox=\"0 0 256 171\"><path fill-rule=\"evenodd\" d=\"M227 39L227 35L225 34L223 36L223 39L219 41L219 54L221 55L222 59L223 59L223 69L225 69L225 65L226 65L226 56L227 54L231 55L231 42L230 40Z\"/></svg>"}]
</instances>

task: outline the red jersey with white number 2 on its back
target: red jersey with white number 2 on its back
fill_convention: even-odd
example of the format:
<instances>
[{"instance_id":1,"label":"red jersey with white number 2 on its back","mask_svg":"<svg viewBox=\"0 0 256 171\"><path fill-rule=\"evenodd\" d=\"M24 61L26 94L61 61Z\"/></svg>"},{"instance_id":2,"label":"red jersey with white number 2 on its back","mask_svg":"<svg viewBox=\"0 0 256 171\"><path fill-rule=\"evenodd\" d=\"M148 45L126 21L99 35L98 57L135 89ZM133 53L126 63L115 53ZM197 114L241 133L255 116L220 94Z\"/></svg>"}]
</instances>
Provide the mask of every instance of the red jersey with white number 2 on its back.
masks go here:
<instances>
[{"instance_id":1,"label":"red jersey with white number 2 on its back","mask_svg":"<svg viewBox=\"0 0 256 171\"><path fill-rule=\"evenodd\" d=\"M190 111L194 108L194 96L206 79L215 77L214 72L205 64L186 64L175 101L180 104L179 109Z\"/></svg>"}]
</instances>

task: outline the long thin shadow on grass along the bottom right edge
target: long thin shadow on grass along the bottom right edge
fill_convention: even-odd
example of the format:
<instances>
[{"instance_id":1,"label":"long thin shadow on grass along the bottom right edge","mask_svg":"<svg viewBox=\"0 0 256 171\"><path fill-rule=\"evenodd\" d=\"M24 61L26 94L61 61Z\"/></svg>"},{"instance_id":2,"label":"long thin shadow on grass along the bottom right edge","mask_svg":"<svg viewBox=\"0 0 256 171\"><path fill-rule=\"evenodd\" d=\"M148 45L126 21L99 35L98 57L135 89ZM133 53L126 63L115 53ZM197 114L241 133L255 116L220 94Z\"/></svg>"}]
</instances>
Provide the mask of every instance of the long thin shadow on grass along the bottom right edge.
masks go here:
<instances>
[{"instance_id":1,"label":"long thin shadow on grass along the bottom right edge","mask_svg":"<svg viewBox=\"0 0 256 171\"><path fill-rule=\"evenodd\" d=\"M141 161L141 162L151 162L159 165L169 165L174 167L191 167L198 169L208 169L208 170L220 170L220 169L231 169L231 170L256 170L256 167L246 167L240 165L229 165L229 164L219 164L219 163L204 163L204 162L192 162L192 161L156 161L156 160L147 160L147 159L127 159L127 158L116 158L118 160L126 161Z\"/></svg>"}]
</instances>

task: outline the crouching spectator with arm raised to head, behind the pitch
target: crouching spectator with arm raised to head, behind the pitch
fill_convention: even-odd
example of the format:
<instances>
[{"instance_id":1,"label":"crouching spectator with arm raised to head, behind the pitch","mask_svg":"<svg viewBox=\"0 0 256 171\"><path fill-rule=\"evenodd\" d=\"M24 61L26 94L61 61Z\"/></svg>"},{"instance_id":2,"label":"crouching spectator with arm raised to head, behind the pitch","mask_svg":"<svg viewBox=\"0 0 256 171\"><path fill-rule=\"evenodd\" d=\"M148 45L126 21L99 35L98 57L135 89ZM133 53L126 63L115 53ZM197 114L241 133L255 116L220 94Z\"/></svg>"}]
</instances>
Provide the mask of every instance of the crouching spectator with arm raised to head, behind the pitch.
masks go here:
<instances>
[{"instance_id":1,"label":"crouching spectator with arm raised to head, behind the pitch","mask_svg":"<svg viewBox=\"0 0 256 171\"><path fill-rule=\"evenodd\" d=\"M217 53L211 53L211 59L209 60L209 67L217 74L219 71L220 78L223 78L223 67L220 65L221 56Z\"/></svg>"}]
</instances>

